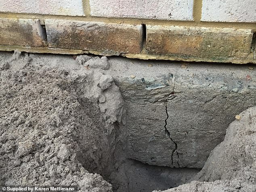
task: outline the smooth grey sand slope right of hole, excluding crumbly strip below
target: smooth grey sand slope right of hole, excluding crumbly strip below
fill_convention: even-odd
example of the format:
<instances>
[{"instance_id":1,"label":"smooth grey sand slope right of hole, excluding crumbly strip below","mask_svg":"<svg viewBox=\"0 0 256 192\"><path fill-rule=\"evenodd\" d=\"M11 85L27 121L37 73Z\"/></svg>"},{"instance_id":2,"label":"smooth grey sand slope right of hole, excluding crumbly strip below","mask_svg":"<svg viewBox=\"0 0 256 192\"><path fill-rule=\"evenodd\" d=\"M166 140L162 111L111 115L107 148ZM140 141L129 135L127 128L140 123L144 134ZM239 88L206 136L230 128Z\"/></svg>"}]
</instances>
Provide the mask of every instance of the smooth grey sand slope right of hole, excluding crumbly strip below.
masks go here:
<instances>
[{"instance_id":1,"label":"smooth grey sand slope right of hole, excluding crumbly strip below","mask_svg":"<svg viewBox=\"0 0 256 192\"><path fill-rule=\"evenodd\" d=\"M229 125L224 141L211 152L196 180L239 179L256 184L256 107L239 116L241 119Z\"/></svg>"}]
</instances>

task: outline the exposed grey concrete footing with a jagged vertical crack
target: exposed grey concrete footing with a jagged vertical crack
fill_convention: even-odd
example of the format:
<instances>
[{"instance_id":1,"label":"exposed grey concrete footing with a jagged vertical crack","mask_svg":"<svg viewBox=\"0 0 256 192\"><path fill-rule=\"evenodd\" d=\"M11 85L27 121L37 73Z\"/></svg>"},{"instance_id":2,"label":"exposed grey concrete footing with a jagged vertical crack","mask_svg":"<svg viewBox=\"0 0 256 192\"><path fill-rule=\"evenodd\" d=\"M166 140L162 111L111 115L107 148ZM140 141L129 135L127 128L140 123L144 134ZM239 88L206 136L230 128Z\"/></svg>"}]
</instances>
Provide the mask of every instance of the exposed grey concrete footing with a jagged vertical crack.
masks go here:
<instances>
[{"instance_id":1,"label":"exposed grey concrete footing with a jagged vertical crack","mask_svg":"<svg viewBox=\"0 0 256 192\"><path fill-rule=\"evenodd\" d=\"M127 106L128 157L150 165L202 168L235 115L256 104L248 66L109 63Z\"/></svg>"}]
</instances>

